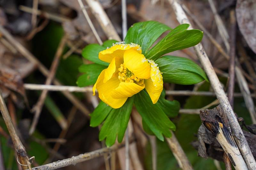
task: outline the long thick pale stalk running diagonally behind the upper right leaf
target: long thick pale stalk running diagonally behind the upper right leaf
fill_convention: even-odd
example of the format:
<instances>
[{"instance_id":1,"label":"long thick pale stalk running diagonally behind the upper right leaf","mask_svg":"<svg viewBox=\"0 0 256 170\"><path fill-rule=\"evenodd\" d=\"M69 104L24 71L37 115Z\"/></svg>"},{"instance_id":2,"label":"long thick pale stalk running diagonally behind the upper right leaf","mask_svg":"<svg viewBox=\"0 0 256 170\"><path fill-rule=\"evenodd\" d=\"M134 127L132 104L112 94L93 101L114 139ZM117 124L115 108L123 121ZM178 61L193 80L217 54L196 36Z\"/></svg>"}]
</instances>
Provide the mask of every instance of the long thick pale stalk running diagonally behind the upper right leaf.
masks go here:
<instances>
[{"instance_id":1,"label":"long thick pale stalk running diagonally behind the upper right leaf","mask_svg":"<svg viewBox=\"0 0 256 170\"><path fill-rule=\"evenodd\" d=\"M176 14L176 18L180 22L180 24L184 24L184 23L190 24L188 17L186 16L185 12L183 11L183 9L181 7L181 4L179 2L177 2L176 0L169 0L169 2L172 5L172 8ZM190 29L192 29L192 26L190 26ZM233 111L232 107L230 106L228 98L220 84L220 81L219 81L215 71L213 70L212 64L202 46L202 44L199 43L194 48L195 48L196 54L197 54L201 64L204 67L204 70L210 80L213 90L216 93L217 98L220 100L220 105L228 117L228 121L229 121L231 130L234 134L238 148L240 149L240 151L242 153L242 156L246 162L246 165L248 166L249 169L256 169L256 162L255 162L255 159L253 158L253 155L249 148L249 145L244 137L244 133L243 133L242 129L240 128L240 125L236 119L236 115L234 114L234 111Z\"/></svg>"}]
</instances>

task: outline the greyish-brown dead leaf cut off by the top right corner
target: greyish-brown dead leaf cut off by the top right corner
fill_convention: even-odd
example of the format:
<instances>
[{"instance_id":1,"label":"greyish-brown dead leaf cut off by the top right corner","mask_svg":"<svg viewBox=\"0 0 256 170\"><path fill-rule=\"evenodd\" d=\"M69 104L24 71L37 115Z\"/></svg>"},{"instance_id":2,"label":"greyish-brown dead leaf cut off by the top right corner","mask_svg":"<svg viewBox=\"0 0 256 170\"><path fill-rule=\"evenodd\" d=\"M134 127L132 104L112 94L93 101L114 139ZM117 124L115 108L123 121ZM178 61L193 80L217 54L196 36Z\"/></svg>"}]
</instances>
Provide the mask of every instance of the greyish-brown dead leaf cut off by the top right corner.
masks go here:
<instances>
[{"instance_id":1,"label":"greyish-brown dead leaf cut off by the top right corner","mask_svg":"<svg viewBox=\"0 0 256 170\"><path fill-rule=\"evenodd\" d=\"M244 39L256 53L256 0L238 0L236 2L236 19Z\"/></svg>"}]
</instances>

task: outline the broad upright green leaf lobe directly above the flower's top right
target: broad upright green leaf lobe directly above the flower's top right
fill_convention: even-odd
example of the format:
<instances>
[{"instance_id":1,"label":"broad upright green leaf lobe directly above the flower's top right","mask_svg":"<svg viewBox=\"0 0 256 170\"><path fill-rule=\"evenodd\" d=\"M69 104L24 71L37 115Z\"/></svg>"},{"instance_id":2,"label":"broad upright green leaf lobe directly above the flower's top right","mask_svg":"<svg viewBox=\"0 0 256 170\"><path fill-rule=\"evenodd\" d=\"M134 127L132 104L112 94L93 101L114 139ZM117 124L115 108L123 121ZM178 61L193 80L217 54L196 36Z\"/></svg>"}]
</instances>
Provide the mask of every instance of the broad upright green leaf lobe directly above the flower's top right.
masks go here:
<instances>
[{"instance_id":1,"label":"broad upright green leaf lobe directly above the flower's top right","mask_svg":"<svg viewBox=\"0 0 256 170\"><path fill-rule=\"evenodd\" d=\"M138 22L129 28L124 41L139 44L142 54L145 54L157 38L167 30L171 28L156 21Z\"/></svg>"}]
</instances>

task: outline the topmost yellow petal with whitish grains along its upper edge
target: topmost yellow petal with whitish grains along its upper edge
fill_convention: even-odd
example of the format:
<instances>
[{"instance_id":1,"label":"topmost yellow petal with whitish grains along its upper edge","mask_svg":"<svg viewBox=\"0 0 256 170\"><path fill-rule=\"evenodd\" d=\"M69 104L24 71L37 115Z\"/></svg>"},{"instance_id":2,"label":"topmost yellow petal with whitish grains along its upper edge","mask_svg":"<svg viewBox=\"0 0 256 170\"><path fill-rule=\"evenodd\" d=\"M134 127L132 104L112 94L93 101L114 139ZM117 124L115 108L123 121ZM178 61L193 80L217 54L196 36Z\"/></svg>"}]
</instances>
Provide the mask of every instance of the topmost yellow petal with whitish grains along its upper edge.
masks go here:
<instances>
[{"instance_id":1,"label":"topmost yellow petal with whitish grains along its upper edge","mask_svg":"<svg viewBox=\"0 0 256 170\"><path fill-rule=\"evenodd\" d=\"M141 54L141 48L138 44L113 44L112 47L107 48L99 53L99 59L110 63L113 58L118 57L123 59L125 50L134 49Z\"/></svg>"}]
</instances>

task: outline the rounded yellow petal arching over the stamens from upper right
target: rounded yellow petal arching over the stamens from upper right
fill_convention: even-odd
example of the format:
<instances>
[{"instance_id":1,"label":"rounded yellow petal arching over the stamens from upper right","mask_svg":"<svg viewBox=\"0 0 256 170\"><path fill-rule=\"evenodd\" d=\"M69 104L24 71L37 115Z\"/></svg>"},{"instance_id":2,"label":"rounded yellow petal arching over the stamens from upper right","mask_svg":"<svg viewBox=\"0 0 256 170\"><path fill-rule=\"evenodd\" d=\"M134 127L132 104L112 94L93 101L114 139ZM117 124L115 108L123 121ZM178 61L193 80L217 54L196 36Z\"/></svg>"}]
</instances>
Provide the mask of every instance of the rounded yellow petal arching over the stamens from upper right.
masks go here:
<instances>
[{"instance_id":1,"label":"rounded yellow petal arching over the stamens from upper right","mask_svg":"<svg viewBox=\"0 0 256 170\"><path fill-rule=\"evenodd\" d=\"M143 54L129 49L124 52L124 66L134 73L137 78L150 78L150 65Z\"/></svg>"}]
</instances>

